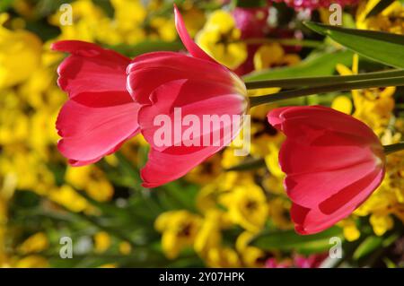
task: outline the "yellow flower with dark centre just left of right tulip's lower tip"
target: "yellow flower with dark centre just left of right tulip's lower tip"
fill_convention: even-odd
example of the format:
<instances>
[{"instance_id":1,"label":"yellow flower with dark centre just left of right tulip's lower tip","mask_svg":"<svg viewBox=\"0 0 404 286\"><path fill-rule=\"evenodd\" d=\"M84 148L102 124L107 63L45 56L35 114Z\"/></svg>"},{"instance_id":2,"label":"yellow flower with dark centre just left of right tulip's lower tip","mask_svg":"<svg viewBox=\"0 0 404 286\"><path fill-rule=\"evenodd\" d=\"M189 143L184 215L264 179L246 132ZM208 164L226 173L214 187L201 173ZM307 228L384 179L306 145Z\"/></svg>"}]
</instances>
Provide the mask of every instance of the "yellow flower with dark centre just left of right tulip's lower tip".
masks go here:
<instances>
[{"instance_id":1,"label":"yellow flower with dark centre just left of right tulip's lower tip","mask_svg":"<svg viewBox=\"0 0 404 286\"><path fill-rule=\"evenodd\" d=\"M268 203L264 191L255 184L235 186L220 202L228 209L229 217L245 230L257 232L268 217Z\"/></svg>"}]
</instances>

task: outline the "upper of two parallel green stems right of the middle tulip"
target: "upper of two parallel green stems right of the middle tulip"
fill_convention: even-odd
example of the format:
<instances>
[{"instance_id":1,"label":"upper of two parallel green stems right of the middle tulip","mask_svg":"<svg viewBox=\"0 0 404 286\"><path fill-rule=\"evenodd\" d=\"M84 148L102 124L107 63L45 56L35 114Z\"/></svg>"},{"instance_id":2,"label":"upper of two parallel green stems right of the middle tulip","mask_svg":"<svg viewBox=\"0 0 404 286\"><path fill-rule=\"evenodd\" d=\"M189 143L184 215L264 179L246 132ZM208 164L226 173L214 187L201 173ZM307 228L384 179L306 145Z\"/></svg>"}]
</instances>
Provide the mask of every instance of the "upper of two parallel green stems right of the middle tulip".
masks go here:
<instances>
[{"instance_id":1,"label":"upper of two parallel green stems right of the middle tulip","mask_svg":"<svg viewBox=\"0 0 404 286\"><path fill-rule=\"evenodd\" d=\"M354 82L363 81L370 79L382 79L404 76L404 70L392 70L392 71L382 71L367 74L353 74L353 75L330 75L330 76L320 76L320 77L300 77L300 78L289 78L289 79L274 79L267 81L257 81L257 82L245 82L247 90L256 90L268 87L280 87L280 88L297 88L303 86L321 86L328 83L339 83L339 82Z\"/></svg>"}]
</instances>

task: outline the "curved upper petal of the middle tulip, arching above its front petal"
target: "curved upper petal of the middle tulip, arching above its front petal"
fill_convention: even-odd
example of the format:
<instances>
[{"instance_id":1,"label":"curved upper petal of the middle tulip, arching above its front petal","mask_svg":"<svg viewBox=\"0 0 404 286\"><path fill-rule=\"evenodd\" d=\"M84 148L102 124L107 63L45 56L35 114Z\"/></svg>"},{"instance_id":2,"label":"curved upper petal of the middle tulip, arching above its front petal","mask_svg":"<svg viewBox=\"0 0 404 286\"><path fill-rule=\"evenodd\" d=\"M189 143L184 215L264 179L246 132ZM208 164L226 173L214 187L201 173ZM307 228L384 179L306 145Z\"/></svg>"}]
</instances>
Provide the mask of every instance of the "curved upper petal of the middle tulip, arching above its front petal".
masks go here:
<instances>
[{"instance_id":1,"label":"curved upper petal of the middle tulip, arching above its front petal","mask_svg":"<svg viewBox=\"0 0 404 286\"><path fill-rule=\"evenodd\" d=\"M165 82L191 79L221 82L233 88L240 81L223 65L172 52L137 56L127 67L127 74L127 91L141 104L150 103L150 94Z\"/></svg>"}]
</instances>

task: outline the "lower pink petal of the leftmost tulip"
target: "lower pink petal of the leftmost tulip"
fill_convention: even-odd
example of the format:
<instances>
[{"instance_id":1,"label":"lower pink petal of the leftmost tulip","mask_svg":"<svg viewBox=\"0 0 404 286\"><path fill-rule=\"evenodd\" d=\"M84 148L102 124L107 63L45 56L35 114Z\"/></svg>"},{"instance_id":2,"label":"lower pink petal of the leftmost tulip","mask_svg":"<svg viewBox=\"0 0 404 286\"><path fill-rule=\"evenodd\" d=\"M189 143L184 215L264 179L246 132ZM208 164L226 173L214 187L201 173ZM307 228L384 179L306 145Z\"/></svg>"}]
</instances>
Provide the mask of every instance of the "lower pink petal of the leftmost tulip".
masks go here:
<instances>
[{"instance_id":1,"label":"lower pink petal of the leftmost tulip","mask_svg":"<svg viewBox=\"0 0 404 286\"><path fill-rule=\"evenodd\" d=\"M115 152L138 133L138 108L135 102L93 108L68 100L57 117L57 130L63 137L57 144L59 151L75 166Z\"/></svg>"}]
</instances>

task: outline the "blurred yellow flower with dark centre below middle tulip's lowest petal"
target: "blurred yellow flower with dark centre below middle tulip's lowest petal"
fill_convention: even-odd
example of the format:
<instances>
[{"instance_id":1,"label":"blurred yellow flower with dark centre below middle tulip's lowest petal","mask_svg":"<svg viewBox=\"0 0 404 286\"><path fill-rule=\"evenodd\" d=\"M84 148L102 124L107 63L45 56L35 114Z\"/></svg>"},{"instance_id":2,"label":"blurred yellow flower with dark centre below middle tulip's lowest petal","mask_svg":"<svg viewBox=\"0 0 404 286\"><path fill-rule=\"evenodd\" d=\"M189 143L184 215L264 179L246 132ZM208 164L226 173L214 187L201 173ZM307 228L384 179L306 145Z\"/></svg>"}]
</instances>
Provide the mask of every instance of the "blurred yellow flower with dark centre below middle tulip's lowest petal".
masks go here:
<instances>
[{"instance_id":1,"label":"blurred yellow flower with dark centre below middle tulip's lowest petal","mask_svg":"<svg viewBox=\"0 0 404 286\"><path fill-rule=\"evenodd\" d=\"M188 211L162 212L154 221L154 228L162 233L162 250L174 259L180 251L194 244L201 218Z\"/></svg>"}]
</instances>

